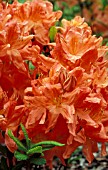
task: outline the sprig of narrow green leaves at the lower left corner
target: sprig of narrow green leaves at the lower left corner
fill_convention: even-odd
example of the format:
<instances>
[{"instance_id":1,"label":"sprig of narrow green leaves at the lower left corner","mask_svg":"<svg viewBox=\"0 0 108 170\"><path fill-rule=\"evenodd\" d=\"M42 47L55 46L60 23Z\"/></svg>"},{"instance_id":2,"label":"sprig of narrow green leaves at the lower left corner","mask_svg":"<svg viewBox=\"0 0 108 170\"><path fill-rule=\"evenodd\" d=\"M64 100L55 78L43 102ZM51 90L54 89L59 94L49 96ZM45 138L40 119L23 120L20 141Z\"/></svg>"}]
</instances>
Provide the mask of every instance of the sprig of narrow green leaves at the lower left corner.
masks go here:
<instances>
[{"instance_id":1,"label":"sprig of narrow green leaves at the lower left corner","mask_svg":"<svg viewBox=\"0 0 108 170\"><path fill-rule=\"evenodd\" d=\"M8 167L6 161L8 150L6 149L5 146L0 145L0 151L5 156L5 157L2 156L1 158L1 164L0 164L1 170L7 170L8 168L12 170L18 170L21 169L22 167L26 169L31 169L34 165L41 166L43 164L46 164L46 160L45 158L43 158L44 156L43 152L45 152L46 150L50 150L55 146L64 146L64 144L55 141L42 141L33 144L29 139L27 131L23 126L23 124L20 124L20 126L26 140L26 145L24 145L23 142L19 141L19 139L13 135L11 130L8 130L9 137L16 143L18 148L14 152L14 157L16 158L15 160L16 165L14 166L12 164L11 166Z\"/></svg>"}]
</instances>

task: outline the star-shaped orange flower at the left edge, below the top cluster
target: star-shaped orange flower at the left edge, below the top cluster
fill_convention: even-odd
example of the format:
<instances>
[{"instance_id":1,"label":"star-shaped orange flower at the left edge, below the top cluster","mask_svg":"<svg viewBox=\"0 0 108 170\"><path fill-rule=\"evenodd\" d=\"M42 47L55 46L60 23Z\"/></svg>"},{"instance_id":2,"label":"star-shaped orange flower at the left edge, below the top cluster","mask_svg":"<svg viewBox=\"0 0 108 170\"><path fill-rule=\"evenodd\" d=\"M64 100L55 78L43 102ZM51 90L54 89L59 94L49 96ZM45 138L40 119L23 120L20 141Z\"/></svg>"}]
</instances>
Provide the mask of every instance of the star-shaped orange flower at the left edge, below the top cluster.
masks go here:
<instances>
[{"instance_id":1,"label":"star-shaped orange flower at the left edge, below the top cluster","mask_svg":"<svg viewBox=\"0 0 108 170\"><path fill-rule=\"evenodd\" d=\"M6 29L0 32L0 57L3 61L12 62L21 72L26 72L20 50L33 38L32 35L23 37L16 22L10 22Z\"/></svg>"}]
</instances>

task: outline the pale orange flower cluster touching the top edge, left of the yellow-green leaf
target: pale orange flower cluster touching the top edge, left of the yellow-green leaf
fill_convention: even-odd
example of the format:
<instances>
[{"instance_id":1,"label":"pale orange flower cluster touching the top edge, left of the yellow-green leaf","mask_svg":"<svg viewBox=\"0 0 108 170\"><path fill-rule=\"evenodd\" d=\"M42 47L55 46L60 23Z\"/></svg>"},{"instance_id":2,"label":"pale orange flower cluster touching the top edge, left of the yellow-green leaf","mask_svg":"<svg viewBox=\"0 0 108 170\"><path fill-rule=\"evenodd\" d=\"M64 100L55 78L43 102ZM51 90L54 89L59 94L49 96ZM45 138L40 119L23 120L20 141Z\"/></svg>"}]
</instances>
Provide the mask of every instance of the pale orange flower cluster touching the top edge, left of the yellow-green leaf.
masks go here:
<instances>
[{"instance_id":1,"label":"pale orange flower cluster touching the top edge, left of the yellow-green leaf","mask_svg":"<svg viewBox=\"0 0 108 170\"><path fill-rule=\"evenodd\" d=\"M62 15L61 11L53 12L50 2L42 0L26 2L18 6L16 4L12 13L15 20L25 25L24 33L33 32L36 41L43 45L49 43L49 29Z\"/></svg>"}]
</instances>

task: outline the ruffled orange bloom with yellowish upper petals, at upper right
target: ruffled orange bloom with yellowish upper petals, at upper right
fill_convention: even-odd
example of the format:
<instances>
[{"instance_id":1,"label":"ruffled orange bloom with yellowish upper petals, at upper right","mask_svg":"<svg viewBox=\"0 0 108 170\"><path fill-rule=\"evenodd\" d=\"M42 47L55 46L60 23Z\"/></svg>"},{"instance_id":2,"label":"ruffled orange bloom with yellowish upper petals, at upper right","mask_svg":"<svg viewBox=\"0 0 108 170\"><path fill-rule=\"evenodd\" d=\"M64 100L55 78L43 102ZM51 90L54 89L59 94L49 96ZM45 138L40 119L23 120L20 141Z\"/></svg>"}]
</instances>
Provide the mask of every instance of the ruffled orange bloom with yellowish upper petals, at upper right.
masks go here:
<instances>
[{"instance_id":1,"label":"ruffled orange bloom with yellowish upper petals, at upper right","mask_svg":"<svg viewBox=\"0 0 108 170\"><path fill-rule=\"evenodd\" d=\"M84 24L82 20L78 22L78 20L80 20L79 17L75 18L73 22L70 21L70 25L65 23L65 31L63 34L57 34L56 46L51 51L53 58L70 70L79 65L86 67L86 62L90 62L92 65L100 57L98 54L99 51L102 52L103 48L101 47L102 38L97 39L92 36L87 24Z\"/></svg>"}]
</instances>

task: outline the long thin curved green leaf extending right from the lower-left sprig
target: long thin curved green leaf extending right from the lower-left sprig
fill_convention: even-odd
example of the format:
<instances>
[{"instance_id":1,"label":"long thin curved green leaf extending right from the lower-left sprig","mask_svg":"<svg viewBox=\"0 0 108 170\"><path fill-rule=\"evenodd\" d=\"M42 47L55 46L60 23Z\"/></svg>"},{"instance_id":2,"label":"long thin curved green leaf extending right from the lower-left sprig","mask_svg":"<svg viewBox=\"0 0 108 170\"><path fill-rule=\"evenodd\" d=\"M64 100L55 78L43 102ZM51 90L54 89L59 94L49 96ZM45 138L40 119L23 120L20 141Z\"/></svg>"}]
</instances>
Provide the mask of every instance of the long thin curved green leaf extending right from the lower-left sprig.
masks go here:
<instances>
[{"instance_id":1,"label":"long thin curved green leaf extending right from the lower-left sprig","mask_svg":"<svg viewBox=\"0 0 108 170\"><path fill-rule=\"evenodd\" d=\"M36 146L40 146L40 145L52 145L52 146L64 146L65 144L56 142L56 141L42 141L36 144L32 145L32 148L36 147Z\"/></svg>"}]
</instances>

